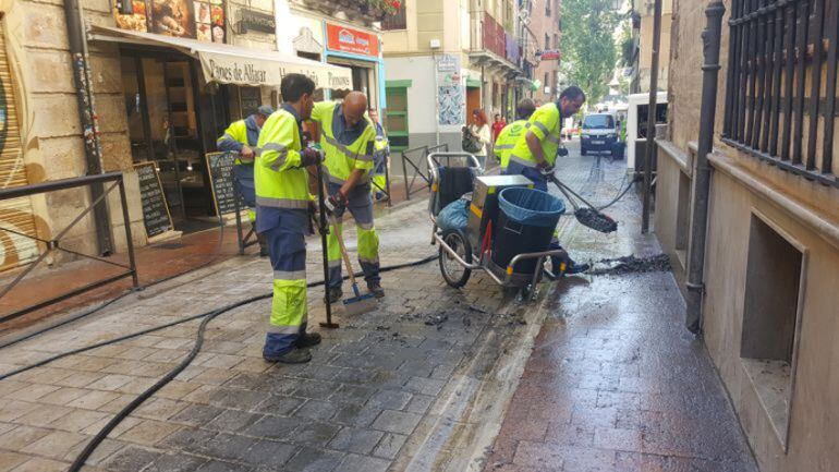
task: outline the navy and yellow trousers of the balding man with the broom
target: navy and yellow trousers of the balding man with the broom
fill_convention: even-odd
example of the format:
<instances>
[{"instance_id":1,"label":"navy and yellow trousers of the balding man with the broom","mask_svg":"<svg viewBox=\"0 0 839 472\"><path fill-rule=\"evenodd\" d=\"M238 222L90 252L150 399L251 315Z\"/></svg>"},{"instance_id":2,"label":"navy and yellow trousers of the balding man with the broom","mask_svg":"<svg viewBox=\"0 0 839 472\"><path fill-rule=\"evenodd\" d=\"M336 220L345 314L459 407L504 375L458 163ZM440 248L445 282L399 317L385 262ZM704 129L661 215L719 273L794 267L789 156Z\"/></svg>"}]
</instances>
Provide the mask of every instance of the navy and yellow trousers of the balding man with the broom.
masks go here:
<instances>
[{"instance_id":1,"label":"navy and yellow trousers of the balding man with the broom","mask_svg":"<svg viewBox=\"0 0 839 472\"><path fill-rule=\"evenodd\" d=\"M329 194L338 193L340 185L329 184ZM358 185L350 191L349 205L346 208L355 219L355 231L358 238L358 263L364 270L364 280L367 282L378 282L379 277L379 235L373 223L373 199L370 198L369 185ZM341 217L343 209L336 215L338 218L338 228L330 228L327 237L328 259L329 259L329 287L341 287L341 249L338 244L336 231L341 231Z\"/></svg>"}]
</instances>

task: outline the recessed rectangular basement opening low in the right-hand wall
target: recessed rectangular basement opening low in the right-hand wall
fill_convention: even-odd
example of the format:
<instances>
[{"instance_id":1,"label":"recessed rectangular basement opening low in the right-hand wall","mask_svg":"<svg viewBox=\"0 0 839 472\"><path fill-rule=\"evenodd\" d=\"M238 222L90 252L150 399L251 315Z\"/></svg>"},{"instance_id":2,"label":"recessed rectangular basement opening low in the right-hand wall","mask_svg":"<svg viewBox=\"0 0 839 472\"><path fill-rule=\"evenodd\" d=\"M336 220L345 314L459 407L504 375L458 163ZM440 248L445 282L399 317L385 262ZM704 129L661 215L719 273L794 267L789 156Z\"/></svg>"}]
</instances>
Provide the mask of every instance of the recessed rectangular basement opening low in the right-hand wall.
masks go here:
<instances>
[{"instance_id":1,"label":"recessed rectangular basement opening low in the right-hand wall","mask_svg":"<svg viewBox=\"0 0 839 472\"><path fill-rule=\"evenodd\" d=\"M804 253L753 215L740 356L775 432L787 444Z\"/></svg>"}]
</instances>

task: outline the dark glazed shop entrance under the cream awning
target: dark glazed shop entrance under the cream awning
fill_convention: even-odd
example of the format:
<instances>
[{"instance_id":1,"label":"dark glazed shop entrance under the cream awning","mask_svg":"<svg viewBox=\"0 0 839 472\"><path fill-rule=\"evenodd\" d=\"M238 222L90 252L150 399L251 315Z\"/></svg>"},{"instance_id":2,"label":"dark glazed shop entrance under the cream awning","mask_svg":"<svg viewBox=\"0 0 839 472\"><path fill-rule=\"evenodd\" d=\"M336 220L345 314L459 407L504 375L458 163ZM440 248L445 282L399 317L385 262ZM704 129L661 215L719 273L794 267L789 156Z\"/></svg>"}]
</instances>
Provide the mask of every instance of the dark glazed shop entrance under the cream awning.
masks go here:
<instances>
[{"instance_id":1,"label":"dark glazed shop entrance under the cream awning","mask_svg":"<svg viewBox=\"0 0 839 472\"><path fill-rule=\"evenodd\" d=\"M204 229L214 210L195 64L175 53L124 48L121 55L134 162L155 162L175 229Z\"/></svg>"}]
</instances>

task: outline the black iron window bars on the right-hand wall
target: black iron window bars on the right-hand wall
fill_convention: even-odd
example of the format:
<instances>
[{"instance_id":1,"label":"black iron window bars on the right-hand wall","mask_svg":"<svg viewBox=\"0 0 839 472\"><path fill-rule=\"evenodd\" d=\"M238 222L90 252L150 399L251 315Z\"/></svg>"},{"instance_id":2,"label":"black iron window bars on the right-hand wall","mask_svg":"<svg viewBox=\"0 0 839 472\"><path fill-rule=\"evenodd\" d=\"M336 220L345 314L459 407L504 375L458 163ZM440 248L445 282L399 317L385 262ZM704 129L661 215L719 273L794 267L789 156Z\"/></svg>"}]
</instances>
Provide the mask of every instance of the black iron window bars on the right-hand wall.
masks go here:
<instances>
[{"instance_id":1,"label":"black iron window bars on the right-hand wall","mask_svg":"<svg viewBox=\"0 0 839 472\"><path fill-rule=\"evenodd\" d=\"M839 186L834 173L837 2L732 0L729 27L722 141L780 169Z\"/></svg>"}]
</instances>

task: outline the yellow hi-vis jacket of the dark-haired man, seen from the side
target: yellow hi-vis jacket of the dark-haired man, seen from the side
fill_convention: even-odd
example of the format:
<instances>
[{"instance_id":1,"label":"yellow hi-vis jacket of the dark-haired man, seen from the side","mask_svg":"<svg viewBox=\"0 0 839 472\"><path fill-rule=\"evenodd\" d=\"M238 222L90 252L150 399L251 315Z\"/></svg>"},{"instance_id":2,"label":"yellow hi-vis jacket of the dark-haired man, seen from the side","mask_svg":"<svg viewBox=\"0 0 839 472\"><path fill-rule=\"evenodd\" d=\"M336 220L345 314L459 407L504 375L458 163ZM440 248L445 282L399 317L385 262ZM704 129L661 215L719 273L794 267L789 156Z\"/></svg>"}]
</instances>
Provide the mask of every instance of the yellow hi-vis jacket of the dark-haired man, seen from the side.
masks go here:
<instances>
[{"instance_id":1,"label":"yellow hi-vis jacket of the dark-haired man, seen from the side","mask_svg":"<svg viewBox=\"0 0 839 472\"><path fill-rule=\"evenodd\" d=\"M254 178L256 205L271 208L308 207L308 172L301 167L297 122L285 110L271 114L259 133Z\"/></svg>"}]
</instances>

